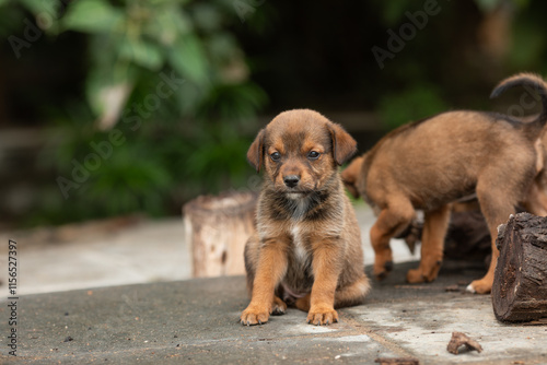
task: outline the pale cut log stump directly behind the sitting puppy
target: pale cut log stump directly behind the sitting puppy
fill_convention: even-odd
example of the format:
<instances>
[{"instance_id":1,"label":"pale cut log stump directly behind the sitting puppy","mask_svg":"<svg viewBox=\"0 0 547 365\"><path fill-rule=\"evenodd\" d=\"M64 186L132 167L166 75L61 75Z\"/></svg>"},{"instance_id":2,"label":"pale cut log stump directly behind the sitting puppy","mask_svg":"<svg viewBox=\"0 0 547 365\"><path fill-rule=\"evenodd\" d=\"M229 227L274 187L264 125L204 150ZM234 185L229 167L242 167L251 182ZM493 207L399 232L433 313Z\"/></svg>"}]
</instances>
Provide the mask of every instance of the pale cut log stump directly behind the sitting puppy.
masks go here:
<instances>
[{"instance_id":1,"label":"pale cut log stump directly behind the sitting puppy","mask_svg":"<svg viewBox=\"0 0 547 365\"><path fill-rule=\"evenodd\" d=\"M256 231L254 192L200 196L183 208L185 238L191 247L194 278L245 273L243 250Z\"/></svg>"}]
</instances>

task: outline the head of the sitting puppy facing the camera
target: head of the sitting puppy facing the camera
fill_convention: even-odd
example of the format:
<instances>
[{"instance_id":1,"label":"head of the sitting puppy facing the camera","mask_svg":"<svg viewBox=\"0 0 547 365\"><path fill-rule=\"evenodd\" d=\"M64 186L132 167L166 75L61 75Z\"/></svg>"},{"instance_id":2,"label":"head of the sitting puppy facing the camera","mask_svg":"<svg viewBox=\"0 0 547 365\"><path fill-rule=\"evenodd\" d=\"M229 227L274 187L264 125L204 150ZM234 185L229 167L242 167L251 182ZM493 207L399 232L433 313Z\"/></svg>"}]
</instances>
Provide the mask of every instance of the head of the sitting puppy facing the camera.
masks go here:
<instances>
[{"instance_id":1,"label":"head of the sitting puppy facing the camera","mask_svg":"<svg viewBox=\"0 0 547 365\"><path fill-rule=\"evenodd\" d=\"M298 109L278 115L258 132L247 152L257 172L290 198L322 190L357 151L357 142L321 114Z\"/></svg>"}]
</instances>

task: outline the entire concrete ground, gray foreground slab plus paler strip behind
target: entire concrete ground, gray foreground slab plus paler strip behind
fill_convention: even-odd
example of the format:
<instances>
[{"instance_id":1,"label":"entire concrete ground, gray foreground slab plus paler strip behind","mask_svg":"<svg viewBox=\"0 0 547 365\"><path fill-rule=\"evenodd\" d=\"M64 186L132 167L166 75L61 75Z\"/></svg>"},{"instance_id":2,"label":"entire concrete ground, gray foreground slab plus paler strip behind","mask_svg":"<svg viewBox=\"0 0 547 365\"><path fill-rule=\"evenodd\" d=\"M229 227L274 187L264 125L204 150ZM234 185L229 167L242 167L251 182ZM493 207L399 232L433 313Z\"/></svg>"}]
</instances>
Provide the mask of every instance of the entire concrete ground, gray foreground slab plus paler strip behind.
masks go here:
<instances>
[{"instance_id":1,"label":"entire concrete ground, gray foreground slab plus paler strip behind","mask_svg":"<svg viewBox=\"0 0 547 365\"><path fill-rule=\"evenodd\" d=\"M371 263L373 217L364 205L357 212ZM4 243L9 237L0 235ZM306 325L305 314L290 308L267 325L244 327L237 322L248 304L244 278L184 280L191 271L183 237L177 219L50 245L18 238L18 358L8 356L2 245L0 364L374 364L377 357L547 364L547 326L500 323L488 295L464 293L484 273L481 264L445 262L434 283L408 285L405 273L418 257L394 242L394 272L374 282L364 305L340 309L339 323ZM458 292L446 292L449 285ZM484 351L450 354L453 331Z\"/></svg>"}]
</instances>

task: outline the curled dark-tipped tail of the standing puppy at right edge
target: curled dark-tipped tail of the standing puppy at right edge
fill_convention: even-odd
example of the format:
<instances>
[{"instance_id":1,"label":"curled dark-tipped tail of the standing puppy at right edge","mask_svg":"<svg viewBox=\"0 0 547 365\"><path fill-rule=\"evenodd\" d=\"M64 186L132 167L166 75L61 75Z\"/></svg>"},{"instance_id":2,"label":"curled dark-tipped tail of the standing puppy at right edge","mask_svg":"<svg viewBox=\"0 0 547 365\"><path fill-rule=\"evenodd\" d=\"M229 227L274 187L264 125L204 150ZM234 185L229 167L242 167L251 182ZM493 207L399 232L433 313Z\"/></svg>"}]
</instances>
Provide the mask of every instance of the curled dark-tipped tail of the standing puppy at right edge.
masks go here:
<instances>
[{"instance_id":1,"label":"curled dark-tipped tail of the standing puppy at right edge","mask_svg":"<svg viewBox=\"0 0 547 365\"><path fill-rule=\"evenodd\" d=\"M505 92L507 90L514 87L514 86L524 87L526 90L526 92L532 94L533 98L535 98L536 101L537 99L542 101L542 113L531 123L531 126L536 127L533 129L536 132L539 132L539 130L542 130L543 127L547 123L547 83L545 83L544 79L542 76L539 76L538 74L519 73L519 74L512 75L512 76L507 78L505 80L501 81L498 84L498 86L496 86L496 89L490 94L490 98L498 97L503 92ZM539 96L539 98L537 98L537 96L535 94L537 94ZM520 99L520 103L524 104L522 97ZM529 102L527 104L529 104ZM525 105L520 105L520 106L523 108L526 108ZM532 106L527 106L527 107L532 107Z\"/></svg>"}]
</instances>

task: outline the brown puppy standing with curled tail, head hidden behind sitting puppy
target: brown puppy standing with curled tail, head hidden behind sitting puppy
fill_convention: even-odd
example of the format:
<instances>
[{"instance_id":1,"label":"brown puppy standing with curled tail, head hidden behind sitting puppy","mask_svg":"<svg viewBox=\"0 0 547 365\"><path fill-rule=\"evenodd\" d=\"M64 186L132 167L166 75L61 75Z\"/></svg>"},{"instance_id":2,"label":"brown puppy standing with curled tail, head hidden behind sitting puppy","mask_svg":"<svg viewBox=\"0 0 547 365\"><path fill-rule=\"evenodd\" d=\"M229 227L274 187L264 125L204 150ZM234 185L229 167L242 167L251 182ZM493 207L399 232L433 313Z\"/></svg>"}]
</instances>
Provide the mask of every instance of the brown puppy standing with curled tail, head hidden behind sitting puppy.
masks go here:
<instances>
[{"instance_id":1,"label":"brown puppy standing with curled tail, head hidden behind sitting puppy","mask_svg":"<svg viewBox=\"0 0 547 365\"><path fill-rule=\"evenodd\" d=\"M410 283L437 278L442 263L450 203L476 192L492 237L488 273L467 287L489 293L498 260L498 225L526 200L540 167L538 139L547 121L547 85L535 74L517 74L492 92L529 85L540 95L543 111L532 122L480 111L449 111L405 125L385 136L342 173L353 195L361 195L377 213L371 228L374 274L393 266L389 238L405 229L415 210L424 211L421 261L407 273Z\"/></svg>"}]
</instances>

